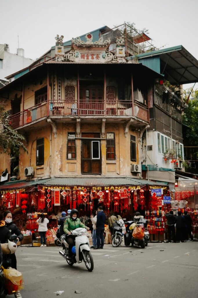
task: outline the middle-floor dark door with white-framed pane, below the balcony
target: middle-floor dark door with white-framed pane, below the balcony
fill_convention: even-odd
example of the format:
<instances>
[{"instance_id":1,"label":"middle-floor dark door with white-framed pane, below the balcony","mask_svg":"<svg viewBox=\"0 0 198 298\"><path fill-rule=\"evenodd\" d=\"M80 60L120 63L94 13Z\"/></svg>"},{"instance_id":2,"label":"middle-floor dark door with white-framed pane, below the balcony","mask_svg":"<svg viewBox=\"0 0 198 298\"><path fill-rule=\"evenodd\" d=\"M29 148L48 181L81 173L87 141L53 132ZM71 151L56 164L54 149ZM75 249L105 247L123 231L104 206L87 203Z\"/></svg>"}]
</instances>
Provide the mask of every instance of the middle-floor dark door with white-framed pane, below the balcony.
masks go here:
<instances>
[{"instance_id":1,"label":"middle-floor dark door with white-framed pane, below the balcony","mask_svg":"<svg viewBox=\"0 0 198 298\"><path fill-rule=\"evenodd\" d=\"M100 134L82 134L82 174L101 174Z\"/></svg>"}]
</instances>

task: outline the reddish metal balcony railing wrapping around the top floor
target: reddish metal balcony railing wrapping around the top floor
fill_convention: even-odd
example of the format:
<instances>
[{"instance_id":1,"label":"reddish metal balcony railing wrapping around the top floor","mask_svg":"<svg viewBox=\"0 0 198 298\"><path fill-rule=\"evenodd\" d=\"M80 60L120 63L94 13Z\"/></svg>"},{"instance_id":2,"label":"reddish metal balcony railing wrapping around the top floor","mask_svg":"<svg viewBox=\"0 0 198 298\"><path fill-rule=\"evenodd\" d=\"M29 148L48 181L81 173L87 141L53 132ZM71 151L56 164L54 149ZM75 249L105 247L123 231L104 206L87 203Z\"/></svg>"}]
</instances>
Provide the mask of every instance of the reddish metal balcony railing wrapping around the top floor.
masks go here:
<instances>
[{"instance_id":1,"label":"reddish metal balcony railing wrapping around the top floor","mask_svg":"<svg viewBox=\"0 0 198 298\"><path fill-rule=\"evenodd\" d=\"M80 100L79 105L77 101L68 103L59 100L49 103L49 108L47 108L47 101L45 101L14 114L9 117L9 123L13 128L19 128L47 116L63 116L65 118L74 116L102 116L110 118L119 118L122 116L130 118L134 116L138 120L149 122L147 106L137 101L134 101L133 108L132 102L128 100L108 101L107 103L104 100L98 100L97 102L93 100Z\"/></svg>"}]
</instances>

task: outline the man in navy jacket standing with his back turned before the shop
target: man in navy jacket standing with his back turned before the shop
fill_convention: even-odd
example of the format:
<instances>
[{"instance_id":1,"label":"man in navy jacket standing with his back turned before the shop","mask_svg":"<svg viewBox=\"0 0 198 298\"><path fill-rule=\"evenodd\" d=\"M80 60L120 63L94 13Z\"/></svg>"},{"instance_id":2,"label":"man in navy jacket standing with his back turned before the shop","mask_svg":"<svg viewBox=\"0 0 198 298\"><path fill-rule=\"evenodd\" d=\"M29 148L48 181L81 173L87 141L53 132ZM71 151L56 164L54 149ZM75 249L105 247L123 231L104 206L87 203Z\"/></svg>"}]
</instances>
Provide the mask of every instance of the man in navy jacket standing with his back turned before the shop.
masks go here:
<instances>
[{"instance_id":1,"label":"man in navy jacket standing with his back turned before the shop","mask_svg":"<svg viewBox=\"0 0 198 298\"><path fill-rule=\"evenodd\" d=\"M98 207L97 221L96 221L96 239L97 246L94 249L103 249L104 246L104 224L106 220L106 215L102 210L102 206Z\"/></svg>"}]
</instances>

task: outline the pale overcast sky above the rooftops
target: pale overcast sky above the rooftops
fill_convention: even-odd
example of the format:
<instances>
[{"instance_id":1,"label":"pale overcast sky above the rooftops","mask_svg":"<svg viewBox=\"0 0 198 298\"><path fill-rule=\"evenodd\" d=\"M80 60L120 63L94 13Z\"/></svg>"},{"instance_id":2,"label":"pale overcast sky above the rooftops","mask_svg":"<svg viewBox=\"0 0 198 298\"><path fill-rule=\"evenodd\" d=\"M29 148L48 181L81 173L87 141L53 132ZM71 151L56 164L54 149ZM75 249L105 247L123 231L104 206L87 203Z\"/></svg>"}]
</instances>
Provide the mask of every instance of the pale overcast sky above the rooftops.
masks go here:
<instances>
[{"instance_id":1,"label":"pale overcast sky above the rooftops","mask_svg":"<svg viewBox=\"0 0 198 298\"><path fill-rule=\"evenodd\" d=\"M183 45L198 59L197 0L0 0L0 44L36 59L55 45L107 25L134 22L149 30L156 47Z\"/></svg>"}]
</instances>

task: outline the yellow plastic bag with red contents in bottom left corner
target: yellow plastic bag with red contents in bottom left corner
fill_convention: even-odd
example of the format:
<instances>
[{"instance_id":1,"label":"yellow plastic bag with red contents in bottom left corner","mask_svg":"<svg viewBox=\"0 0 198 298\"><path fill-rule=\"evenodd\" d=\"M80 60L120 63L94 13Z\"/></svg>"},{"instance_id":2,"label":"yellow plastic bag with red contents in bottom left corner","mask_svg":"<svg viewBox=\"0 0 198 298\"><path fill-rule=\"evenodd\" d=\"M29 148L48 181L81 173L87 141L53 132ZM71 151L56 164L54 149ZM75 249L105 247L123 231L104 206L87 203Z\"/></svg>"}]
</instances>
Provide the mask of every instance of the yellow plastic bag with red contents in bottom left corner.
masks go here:
<instances>
[{"instance_id":1,"label":"yellow plastic bag with red contents in bottom left corner","mask_svg":"<svg viewBox=\"0 0 198 298\"><path fill-rule=\"evenodd\" d=\"M5 285L8 295L23 289L23 275L21 272L11 267L3 268L3 272L6 278Z\"/></svg>"}]
</instances>

